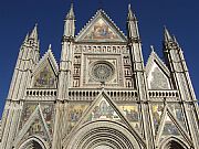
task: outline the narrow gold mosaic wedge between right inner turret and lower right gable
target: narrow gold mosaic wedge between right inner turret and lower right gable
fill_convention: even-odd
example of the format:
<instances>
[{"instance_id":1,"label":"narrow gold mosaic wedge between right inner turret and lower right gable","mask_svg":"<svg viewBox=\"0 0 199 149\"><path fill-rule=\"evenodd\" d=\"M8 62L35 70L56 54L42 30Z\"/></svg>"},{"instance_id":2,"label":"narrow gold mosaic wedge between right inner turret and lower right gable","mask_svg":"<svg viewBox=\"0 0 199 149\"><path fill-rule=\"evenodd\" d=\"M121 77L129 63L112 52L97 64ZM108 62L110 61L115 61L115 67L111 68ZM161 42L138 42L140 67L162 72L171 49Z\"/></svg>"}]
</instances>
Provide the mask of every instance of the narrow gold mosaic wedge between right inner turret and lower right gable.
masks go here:
<instances>
[{"instance_id":1,"label":"narrow gold mosaic wedge between right inner turret and lower right gable","mask_svg":"<svg viewBox=\"0 0 199 149\"><path fill-rule=\"evenodd\" d=\"M161 117L164 113L164 105L163 104L156 104L151 105L151 114L153 114L153 120L154 120L154 128L157 132Z\"/></svg>"}]
</instances>

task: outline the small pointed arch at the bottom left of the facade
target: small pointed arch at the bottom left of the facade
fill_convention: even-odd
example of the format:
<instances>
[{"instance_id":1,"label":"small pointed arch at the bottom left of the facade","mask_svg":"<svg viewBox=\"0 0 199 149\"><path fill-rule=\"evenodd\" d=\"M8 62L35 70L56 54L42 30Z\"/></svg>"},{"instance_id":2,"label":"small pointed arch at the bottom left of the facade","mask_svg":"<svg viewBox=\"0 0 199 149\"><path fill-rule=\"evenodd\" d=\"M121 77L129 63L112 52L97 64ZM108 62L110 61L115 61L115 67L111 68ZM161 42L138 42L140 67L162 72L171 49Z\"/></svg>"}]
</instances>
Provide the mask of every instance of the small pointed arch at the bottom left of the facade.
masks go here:
<instances>
[{"instance_id":1,"label":"small pointed arch at the bottom left of the facade","mask_svg":"<svg viewBox=\"0 0 199 149\"><path fill-rule=\"evenodd\" d=\"M18 149L48 149L48 145L38 136L31 136Z\"/></svg>"}]
</instances>

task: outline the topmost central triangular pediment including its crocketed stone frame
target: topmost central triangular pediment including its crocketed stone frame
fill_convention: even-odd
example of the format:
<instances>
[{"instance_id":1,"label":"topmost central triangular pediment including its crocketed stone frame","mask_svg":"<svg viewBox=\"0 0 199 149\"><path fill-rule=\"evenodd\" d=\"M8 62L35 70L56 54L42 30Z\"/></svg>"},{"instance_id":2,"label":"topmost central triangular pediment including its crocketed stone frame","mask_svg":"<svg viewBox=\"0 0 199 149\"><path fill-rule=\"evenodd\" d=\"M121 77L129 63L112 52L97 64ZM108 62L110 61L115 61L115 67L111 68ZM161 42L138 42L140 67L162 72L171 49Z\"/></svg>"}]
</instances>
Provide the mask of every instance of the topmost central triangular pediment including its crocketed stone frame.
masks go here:
<instances>
[{"instance_id":1,"label":"topmost central triangular pediment including its crocketed stone frame","mask_svg":"<svg viewBox=\"0 0 199 149\"><path fill-rule=\"evenodd\" d=\"M126 42L126 36L106 15L98 10L95 17L76 36L77 42Z\"/></svg>"}]
</instances>

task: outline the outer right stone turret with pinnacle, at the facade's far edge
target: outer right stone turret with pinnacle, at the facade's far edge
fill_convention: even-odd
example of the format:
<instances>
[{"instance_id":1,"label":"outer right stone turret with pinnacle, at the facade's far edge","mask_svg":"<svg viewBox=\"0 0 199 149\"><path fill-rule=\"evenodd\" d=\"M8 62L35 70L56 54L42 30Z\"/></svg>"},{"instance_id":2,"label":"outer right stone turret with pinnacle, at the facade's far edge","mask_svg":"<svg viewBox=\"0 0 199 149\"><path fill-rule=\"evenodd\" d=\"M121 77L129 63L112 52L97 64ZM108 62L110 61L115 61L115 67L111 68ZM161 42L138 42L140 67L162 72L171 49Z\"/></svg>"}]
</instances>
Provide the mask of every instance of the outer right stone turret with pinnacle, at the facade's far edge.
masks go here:
<instances>
[{"instance_id":1,"label":"outer right stone turret with pinnacle, at the facade's far edge","mask_svg":"<svg viewBox=\"0 0 199 149\"><path fill-rule=\"evenodd\" d=\"M184 53L181 47L179 46L176 38L171 38L168 30L165 28L164 30L164 54L166 58L167 66L169 67L171 72L172 77L172 84L175 86L175 89L179 92L179 100L181 103L181 106L185 109L190 109L190 105L187 104L189 102L195 103L192 105L192 110L198 113L198 105L196 95L193 92L193 87L190 81L189 72L187 68L187 64L184 57ZM191 138L195 139L195 147L198 147L198 140L196 137L196 129L192 125L198 125L192 119L199 118L198 115L196 117L190 114L188 110L185 110L185 115L188 118L188 125L189 125L189 132L191 135Z\"/></svg>"}]
</instances>

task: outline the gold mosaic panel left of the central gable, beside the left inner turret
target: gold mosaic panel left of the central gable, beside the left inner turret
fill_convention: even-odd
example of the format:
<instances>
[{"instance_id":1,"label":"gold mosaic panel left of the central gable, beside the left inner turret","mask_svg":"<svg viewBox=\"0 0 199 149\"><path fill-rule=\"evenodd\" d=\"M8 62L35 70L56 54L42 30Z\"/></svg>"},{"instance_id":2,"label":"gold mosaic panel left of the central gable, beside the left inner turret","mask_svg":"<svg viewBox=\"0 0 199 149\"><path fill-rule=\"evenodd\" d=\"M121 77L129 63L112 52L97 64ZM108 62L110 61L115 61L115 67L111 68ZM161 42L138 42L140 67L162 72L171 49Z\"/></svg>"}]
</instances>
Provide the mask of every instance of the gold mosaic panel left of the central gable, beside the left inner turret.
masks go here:
<instances>
[{"instance_id":1,"label":"gold mosaic panel left of the central gable, beside the left inner turret","mask_svg":"<svg viewBox=\"0 0 199 149\"><path fill-rule=\"evenodd\" d=\"M82 117L88 104L70 104L69 106L69 129L67 132L76 125Z\"/></svg>"}]
</instances>

